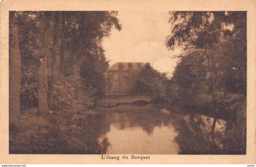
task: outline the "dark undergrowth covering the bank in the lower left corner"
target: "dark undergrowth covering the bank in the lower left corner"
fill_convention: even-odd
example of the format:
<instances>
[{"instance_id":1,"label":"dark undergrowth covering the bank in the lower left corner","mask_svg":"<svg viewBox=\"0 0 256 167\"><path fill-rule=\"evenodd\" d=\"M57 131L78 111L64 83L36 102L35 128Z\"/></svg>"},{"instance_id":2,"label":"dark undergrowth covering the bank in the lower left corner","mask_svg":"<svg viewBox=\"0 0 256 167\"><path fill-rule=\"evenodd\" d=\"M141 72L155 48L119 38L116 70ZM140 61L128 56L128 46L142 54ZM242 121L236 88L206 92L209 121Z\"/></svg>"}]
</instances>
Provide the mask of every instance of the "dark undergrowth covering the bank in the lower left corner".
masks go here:
<instances>
[{"instance_id":1,"label":"dark undergrowth covering the bank in the lower left corner","mask_svg":"<svg viewBox=\"0 0 256 167\"><path fill-rule=\"evenodd\" d=\"M105 154L109 145L106 138L98 141L109 128L104 114L64 110L40 115L30 108L20 121L21 126L10 126L11 154Z\"/></svg>"}]
</instances>

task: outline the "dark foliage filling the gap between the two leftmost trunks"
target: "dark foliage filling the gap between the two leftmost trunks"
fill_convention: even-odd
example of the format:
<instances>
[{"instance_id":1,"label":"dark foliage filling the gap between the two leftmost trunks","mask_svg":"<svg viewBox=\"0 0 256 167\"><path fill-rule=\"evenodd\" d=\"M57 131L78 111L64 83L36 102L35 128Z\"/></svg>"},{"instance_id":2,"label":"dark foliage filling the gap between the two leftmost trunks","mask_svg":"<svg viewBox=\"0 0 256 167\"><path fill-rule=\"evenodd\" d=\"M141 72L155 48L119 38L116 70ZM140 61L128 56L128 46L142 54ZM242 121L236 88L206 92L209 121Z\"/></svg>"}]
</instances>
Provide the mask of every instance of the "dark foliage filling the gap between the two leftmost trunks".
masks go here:
<instances>
[{"instance_id":1,"label":"dark foliage filling the gap between the two leftmost trunks","mask_svg":"<svg viewBox=\"0 0 256 167\"><path fill-rule=\"evenodd\" d=\"M16 12L16 15L21 52L21 108L38 107L38 67L43 48L44 13L26 11Z\"/></svg>"}]
</instances>

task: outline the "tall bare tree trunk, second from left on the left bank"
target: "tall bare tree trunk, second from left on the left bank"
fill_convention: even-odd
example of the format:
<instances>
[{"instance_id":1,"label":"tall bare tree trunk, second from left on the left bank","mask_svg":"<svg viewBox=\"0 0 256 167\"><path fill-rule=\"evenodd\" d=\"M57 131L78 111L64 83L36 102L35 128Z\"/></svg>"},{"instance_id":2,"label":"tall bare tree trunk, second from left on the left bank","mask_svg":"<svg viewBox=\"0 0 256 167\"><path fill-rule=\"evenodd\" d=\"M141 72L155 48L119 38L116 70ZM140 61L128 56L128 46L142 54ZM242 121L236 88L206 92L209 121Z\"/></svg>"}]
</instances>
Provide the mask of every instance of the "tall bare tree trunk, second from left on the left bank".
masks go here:
<instances>
[{"instance_id":1,"label":"tall bare tree trunk, second from left on the left bank","mask_svg":"<svg viewBox=\"0 0 256 167\"><path fill-rule=\"evenodd\" d=\"M43 50L42 55L40 56L39 63L39 87L38 87L38 102L39 109L41 112L46 112L49 110L48 107L48 58L49 58L49 49L50 49L50 41L52 38L52 29L54 23L54 13L46 13L46 26L44 27L44 37L43 37Z\"/></svg>"}]
</instances>

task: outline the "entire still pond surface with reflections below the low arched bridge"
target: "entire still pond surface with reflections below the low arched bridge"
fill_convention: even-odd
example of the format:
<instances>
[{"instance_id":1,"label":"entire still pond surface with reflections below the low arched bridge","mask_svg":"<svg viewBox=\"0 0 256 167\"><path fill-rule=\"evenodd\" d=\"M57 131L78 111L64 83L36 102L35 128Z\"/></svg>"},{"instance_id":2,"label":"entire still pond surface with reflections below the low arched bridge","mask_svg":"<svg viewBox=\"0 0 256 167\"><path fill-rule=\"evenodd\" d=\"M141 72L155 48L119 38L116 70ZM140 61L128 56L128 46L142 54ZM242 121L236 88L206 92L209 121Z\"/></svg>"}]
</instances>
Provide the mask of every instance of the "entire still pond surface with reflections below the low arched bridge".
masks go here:
<instances>
[{"instance_id":1,"label":"entire still pond surface with reflections below the low arched bridge","mask_svg":"<svg viewBox=\"0 0 256 167\"><path fill-rule=\"evenodd\" d=\"M165 107L123 105L98 108L88 117L98 152L91 154L233 154L232 122L184 114ZM95 135L97 134L97 135ZM92 140L92 138L87 138ZM95 142L94 142L95 144ZM238 152L239 154L239 152Z\"/></svg>"}]
</instances>

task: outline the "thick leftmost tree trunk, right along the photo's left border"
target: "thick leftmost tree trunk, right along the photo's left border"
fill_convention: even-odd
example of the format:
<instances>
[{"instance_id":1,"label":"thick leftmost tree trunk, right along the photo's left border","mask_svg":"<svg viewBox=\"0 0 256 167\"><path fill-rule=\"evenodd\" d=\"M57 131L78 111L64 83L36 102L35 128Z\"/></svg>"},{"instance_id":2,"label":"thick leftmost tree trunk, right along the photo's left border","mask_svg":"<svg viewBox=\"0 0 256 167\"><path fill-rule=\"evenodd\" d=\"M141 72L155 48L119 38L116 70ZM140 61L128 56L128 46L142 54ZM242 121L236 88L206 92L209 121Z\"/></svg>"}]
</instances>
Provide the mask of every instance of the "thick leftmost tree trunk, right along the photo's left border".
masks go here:
<instances>
[{"instance_id":1,"label":"thick leftmost tree trunk, right along the photo's left border","mask_svg":"<svg viewBox=\"0 0 256 167\"><path fill-rule=\"evenodd\" d=\"M15 22L15 12L10 12L10 123L18 123L20 118L21 91L21 54L18 39L18 27Z\"/></svg>"}]
</instances>

